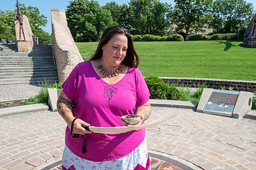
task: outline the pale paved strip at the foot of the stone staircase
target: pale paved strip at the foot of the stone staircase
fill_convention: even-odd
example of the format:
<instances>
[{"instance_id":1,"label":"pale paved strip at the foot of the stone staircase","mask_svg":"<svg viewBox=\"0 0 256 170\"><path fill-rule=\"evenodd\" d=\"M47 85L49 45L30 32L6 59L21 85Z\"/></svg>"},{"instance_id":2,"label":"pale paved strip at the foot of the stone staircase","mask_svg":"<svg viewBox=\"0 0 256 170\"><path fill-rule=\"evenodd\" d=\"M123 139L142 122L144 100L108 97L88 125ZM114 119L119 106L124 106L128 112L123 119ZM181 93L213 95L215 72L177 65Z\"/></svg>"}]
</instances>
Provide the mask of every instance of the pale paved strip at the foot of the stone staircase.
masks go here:
<instances>
[{"instance_id":1,"label":"pale paved strip at the foot of the stone staircase","mask_svg":"<svg viewBox=\"0 0 256 170\"><path fill-rule=\"evenodd\" d=\"M30 84L0 85L0 102L29 99L38 94L39 89Z\"/></svg>"}]
</instances>

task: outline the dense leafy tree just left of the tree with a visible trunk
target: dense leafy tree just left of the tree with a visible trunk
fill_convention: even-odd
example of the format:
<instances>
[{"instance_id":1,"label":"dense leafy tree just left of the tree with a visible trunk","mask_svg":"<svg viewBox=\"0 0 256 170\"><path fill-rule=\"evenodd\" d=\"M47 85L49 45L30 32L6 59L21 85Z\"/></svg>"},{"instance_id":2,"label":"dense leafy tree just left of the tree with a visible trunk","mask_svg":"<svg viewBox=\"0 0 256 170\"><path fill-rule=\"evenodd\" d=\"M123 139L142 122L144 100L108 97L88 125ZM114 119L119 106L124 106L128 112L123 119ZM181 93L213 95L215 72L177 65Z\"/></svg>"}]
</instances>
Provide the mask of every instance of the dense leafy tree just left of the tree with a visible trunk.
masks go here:
<instances>
[{"instance_id":1,"label":"dense leafy tree just left of the tree with a visible trunk","mask_svg":"<svg viewBox=\"0 0 256 170\"><path fill-rule=\"evenodd\" d=\"M133 11L132 34L164 35L169 21L166 18L169 12L167 3L159 0L131 0L129 3Z\"/></svg>"}]
</instances>

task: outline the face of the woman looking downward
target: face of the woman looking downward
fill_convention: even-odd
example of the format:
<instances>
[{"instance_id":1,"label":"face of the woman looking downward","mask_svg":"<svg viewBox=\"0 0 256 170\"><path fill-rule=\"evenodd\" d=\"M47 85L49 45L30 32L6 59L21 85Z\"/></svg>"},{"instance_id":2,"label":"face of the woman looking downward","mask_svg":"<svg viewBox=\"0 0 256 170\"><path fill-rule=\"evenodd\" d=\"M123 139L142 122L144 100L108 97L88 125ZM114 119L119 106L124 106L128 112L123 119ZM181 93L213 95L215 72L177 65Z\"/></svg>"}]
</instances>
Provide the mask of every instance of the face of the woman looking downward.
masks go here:
<instances>
[{"instance_id":1,"label":"face of the woman looking downward","mask_svg":"<svg viewBox=\"0 0 256 170\"><path fill-rule=\"evenodd\" d=\"M106 69L111 69L121 64L126 55L127 43L128 40L124 34L114 34L108 43L102 46L101 62Z\"/></svg>"}]
</instances>

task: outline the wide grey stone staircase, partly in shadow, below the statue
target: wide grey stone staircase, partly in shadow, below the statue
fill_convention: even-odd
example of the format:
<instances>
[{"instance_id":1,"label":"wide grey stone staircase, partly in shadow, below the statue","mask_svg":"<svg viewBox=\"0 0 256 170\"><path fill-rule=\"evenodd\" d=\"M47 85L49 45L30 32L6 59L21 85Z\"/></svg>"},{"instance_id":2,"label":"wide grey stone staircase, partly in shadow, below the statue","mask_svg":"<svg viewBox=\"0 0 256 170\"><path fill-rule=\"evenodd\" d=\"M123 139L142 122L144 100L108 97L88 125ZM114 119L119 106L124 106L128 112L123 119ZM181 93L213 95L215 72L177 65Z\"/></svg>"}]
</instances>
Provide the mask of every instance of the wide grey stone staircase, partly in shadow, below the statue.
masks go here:
<instances>
[{"instance_id":1,"label":"wide grey stone staircase, partly in shadow, below the statue","mask_svg":"<svg viewBox=\"0 0 256 170\"><path fill-rule=\"evenodd\" d=\"M15 44L0 44L0 85L58 82L51 45L18 53Z\"/></svg>"}]
</instances>

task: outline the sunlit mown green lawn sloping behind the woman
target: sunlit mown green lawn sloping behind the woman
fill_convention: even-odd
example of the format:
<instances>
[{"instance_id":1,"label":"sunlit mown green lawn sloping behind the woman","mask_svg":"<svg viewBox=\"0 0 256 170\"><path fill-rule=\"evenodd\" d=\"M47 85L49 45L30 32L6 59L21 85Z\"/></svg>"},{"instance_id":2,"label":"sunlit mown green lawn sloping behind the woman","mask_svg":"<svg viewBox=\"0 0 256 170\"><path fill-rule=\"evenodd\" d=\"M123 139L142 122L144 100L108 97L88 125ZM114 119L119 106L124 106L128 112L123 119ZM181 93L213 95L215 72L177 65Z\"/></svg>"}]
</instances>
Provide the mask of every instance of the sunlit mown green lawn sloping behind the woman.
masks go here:
<instances>
[{"instance_id":1,"label":"sunlit mown green lawn sloping behind the woman","mask_svg":"<svg viewBox=\"0 0 256 170\"><path fill-rule=\"evenodd\" d=\"M135 42L143 76L256 81L256 48L241 41ZM76 43L84 60L97 42Z\"/></svg>"}]
</instances>

